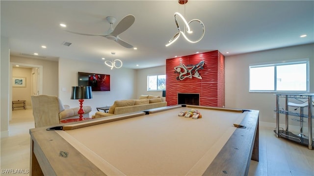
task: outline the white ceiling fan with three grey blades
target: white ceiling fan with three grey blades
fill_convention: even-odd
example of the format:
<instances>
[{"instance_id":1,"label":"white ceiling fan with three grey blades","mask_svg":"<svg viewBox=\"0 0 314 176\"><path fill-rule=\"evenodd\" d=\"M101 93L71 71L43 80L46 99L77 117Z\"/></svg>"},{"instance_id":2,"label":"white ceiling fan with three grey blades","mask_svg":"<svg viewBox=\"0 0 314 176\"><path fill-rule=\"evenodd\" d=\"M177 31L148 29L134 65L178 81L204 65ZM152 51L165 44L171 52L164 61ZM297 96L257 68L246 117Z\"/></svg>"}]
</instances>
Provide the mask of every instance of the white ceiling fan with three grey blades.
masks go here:
<instances>
[{"instance_id":1,"label":"white ceiling fan with three grey blades","mask_svg":"<svg viewBox=\"0 0 314 176\"><path fill-rule=\"evenodd\" d=\"M112 25L117 21L114 17L106 17L107 22L110 23L110 28L108 29L107 33L105 35L101 34L85 34L85 33L79 33L79 32L73 32L68 31L74 34L79 35L88 35L88 36L102 36L110 40L114 40L118 44L121 44L124 47L132 48L133 46L131 44L128 44L127 42L123 41L118 35L122 32L126 31L135 21L135 17L133 15L127 15L124 17L115 28L112 27Z\"/></svg>"}]
</instances>

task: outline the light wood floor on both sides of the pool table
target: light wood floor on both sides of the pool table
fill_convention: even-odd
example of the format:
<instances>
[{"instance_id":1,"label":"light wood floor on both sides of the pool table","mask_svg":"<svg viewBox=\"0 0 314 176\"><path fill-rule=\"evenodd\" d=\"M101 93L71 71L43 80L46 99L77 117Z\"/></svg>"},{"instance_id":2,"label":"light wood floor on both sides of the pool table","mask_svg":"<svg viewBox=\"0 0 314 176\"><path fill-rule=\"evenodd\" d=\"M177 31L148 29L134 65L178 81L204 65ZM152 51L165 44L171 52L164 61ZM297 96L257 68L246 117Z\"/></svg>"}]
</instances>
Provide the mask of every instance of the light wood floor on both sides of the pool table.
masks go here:
<instances>
[{"instance_id":1,"label":"light wood floor on both sides of the pool table","mask_svg":"<svg viewBox=\"0 0 314 176\"><path fill-rule=\"evenodd\" d=\"M28 176L32 110L13 110L9 137L1 138L1 176ZM4 173L5 169L25 174ZM314 150L277 138L273 128L260 126L260 161L252 161L250 176L314 176Z\"/></svg>"}]
</instances>

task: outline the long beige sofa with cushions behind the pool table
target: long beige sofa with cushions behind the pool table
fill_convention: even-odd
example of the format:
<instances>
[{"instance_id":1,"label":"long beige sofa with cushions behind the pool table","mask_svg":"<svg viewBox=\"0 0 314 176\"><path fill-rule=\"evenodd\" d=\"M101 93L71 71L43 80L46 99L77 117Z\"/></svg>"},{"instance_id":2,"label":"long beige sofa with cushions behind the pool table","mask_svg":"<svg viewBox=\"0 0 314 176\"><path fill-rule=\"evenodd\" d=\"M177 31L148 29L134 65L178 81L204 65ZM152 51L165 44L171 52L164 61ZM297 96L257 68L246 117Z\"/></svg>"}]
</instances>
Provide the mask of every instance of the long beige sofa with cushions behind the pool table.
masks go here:
<instances>
[{"instance_id":1,"label":"long beige sofa with cushions behind the pool table","mask_svg":"<svg viewBox=\"0 0 314 176\"><path fill-rule=\"evenodd\" d=\"M106 117L166 106L167 102L163 102L160 96L141 95L138 100L116 100L113 105L110 106L108 112L98 111L92 116L92 118Z\"/></svg>"}]
</instances>

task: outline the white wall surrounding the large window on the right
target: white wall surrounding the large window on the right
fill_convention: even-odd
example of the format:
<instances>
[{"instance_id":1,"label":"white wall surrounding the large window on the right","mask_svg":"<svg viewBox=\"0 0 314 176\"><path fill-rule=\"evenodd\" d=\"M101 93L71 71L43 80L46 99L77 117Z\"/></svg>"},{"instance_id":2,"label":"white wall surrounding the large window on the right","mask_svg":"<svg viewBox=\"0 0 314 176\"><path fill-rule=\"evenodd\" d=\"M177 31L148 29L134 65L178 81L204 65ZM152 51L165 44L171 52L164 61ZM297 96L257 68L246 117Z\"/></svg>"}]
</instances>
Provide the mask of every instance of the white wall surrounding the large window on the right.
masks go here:
<instances>
[{"instance_id":1,"label":"white wall surrounding the large window on the right","mask_svg":"<svg viewBox=\"0 0 314 176\"><path fill-rule=\"evenodd\" d=\"M226 107L260 110L260 121L275 123L276 96L274 93L249 92L249 65L304 58L310 59L310 92L314 92L314 44L226 57ZM280 123L284 124L284 119Z\"/></svg>"}]
</instances>

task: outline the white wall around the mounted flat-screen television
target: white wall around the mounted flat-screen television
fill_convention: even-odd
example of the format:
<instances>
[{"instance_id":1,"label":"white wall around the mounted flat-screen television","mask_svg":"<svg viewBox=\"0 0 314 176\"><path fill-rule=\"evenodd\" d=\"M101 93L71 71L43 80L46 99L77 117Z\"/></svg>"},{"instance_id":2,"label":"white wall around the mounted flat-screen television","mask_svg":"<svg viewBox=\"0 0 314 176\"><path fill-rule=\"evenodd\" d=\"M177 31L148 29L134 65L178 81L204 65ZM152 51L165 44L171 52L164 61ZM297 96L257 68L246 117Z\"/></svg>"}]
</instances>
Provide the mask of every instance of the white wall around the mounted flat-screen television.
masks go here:
<instances>
[{"instance_id":1,"label":"white wall around the mounted flat-screen television","mask_svg":"<svg viewBox=\"0 0 314 176\"><path fill-rule=\"evenodd\" d=\"M100 73L110 75L110 91L93 91L92 99L85 99L83 106L110 106L115 100L136 98L136 70L128 68L113 68L105 64L83 62L72 59L59 59L59 98L64 105L78 107L78 100L71 100L73 86L78 86L78 72ZM93 115L92 113L90 115Z\"/></svg>"}]
</instances>

